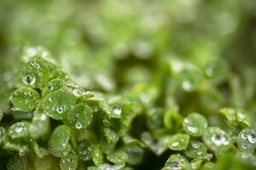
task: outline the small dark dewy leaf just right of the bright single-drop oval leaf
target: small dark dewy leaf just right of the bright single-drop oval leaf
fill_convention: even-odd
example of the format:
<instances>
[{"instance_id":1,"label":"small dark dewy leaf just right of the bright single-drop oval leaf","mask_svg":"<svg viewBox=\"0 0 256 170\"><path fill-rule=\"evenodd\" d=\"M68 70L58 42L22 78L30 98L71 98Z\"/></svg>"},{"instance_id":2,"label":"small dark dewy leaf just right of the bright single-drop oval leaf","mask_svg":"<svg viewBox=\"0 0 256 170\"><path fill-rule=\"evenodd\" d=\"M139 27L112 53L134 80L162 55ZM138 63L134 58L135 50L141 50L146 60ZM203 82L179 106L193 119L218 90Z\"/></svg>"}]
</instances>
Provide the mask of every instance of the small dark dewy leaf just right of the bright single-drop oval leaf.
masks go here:
<instances>
[{"instance_id":1,"label":"small dark dewy leaf just right of the bright single-drop oval leaf","mask_svg":"<svg viewBox=\"0 0 256 170\"><path fill-rule=\"evenodd\" d=\"M198 158L200 156L207 155L207 147L205 144L196 141L190 140L187 149L185 150L185 155L190 158Z\"/></svg>"}]
</instances>

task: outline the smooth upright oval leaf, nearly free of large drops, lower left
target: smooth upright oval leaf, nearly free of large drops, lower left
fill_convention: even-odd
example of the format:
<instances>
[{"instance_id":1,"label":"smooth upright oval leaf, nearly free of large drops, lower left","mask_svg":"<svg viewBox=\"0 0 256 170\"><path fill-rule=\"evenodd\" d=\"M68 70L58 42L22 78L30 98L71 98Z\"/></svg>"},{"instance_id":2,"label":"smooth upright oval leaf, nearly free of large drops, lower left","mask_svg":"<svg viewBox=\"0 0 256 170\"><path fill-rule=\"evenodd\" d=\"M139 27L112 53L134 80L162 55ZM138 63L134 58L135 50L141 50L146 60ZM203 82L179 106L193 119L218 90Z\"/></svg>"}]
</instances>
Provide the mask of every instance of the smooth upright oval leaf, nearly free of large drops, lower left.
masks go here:
<instances>
[{"instance_id":1,"label":"smooth upright oval leaf, nearly free of large drops, lower left","mask_svg":"<svg viewBox=\"0 0 256 170\"><path fill-rule=\"evenodd\" d=\"M67 127L67 125L60 125L58 127L55 127L55 130L51 134L48 143L49 153L53 156L65 156L71 149L70 144L68 144L69 139L70 129L69 127Z\"/></svg>"}]
</instances>

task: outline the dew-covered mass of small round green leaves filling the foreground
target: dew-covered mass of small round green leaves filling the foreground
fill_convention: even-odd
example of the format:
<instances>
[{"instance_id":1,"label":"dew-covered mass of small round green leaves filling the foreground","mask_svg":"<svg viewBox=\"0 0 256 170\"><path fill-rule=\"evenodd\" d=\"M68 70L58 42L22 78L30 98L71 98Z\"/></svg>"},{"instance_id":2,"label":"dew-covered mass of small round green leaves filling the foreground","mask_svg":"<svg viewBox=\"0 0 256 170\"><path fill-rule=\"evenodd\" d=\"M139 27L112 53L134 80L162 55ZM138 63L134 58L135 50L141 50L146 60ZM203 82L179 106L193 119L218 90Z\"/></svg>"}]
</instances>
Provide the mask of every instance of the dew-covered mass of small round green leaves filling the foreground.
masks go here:
<instances>
[{"instance_id":1,"label":"dew-covered mass of small round green leaves filling the foreground","mask_svg":"<svg viewBox=\"0 0 256 170\"><path fill-rule=\"evenodd\" d=\"M180 114L168 104L177 92L201 88L195 68L189 68L173 71L172 95L161 99L167 105L154 108L150 89L104 94L79 87L48 60L30 59L21 68L20 87L9 96L9 111L0 111L1 166L130 170L155 159L166 161L152 167L162 170L255 168L256 131L246 111L219 108L212 119L207 113ZM201 97L214 102L215 94L201 91ZM213 111L211 104L203 108ZM219 127L212 126L221 119Z\"/></svg>"}]
</instances>

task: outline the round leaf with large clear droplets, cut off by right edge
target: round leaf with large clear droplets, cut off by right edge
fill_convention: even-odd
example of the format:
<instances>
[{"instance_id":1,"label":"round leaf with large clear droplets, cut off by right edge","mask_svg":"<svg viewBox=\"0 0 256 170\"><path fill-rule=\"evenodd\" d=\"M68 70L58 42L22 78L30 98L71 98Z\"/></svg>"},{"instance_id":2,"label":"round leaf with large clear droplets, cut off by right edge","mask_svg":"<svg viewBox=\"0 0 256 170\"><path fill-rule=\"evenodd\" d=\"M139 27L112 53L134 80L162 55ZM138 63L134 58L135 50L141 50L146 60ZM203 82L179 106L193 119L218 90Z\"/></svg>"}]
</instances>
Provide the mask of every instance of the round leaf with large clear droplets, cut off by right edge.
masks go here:
<instances>
[{"instance_id":1,"label":"round leaf with large clear droplets, cut off by right edge","mask_svg":"<svg viewBox=\"0 0 256 170\"><path fill-rule=\"evenodd\" d=\"M241 151L253 153L256 149L256 131L253 128L244 128L238 135L237 146Z\"/></svg>"}]
</instances>

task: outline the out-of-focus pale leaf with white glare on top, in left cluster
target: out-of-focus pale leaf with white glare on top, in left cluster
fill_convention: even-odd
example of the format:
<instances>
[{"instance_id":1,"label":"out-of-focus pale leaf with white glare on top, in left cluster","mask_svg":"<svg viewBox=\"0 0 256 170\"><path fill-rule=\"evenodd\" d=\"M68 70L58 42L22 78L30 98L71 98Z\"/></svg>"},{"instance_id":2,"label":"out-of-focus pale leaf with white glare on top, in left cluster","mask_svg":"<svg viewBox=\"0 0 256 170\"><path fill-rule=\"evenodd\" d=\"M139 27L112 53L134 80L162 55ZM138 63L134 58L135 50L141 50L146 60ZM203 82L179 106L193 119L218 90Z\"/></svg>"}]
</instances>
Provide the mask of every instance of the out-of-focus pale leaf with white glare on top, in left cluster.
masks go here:
<instances>
[{"instance_id":1,"label":"out-of-focus pale leaf with white glare on top, in left cluster","mask_svg":"<svg viewBox=\"0 0 256 170\"><path fill-rule=\"evenodd\" d=\"M49 132L49 117L45 114L36 114L32 118L32 123L29 127L29 134L32 139L43 137Z\"/></svg>"}]
</instances>

